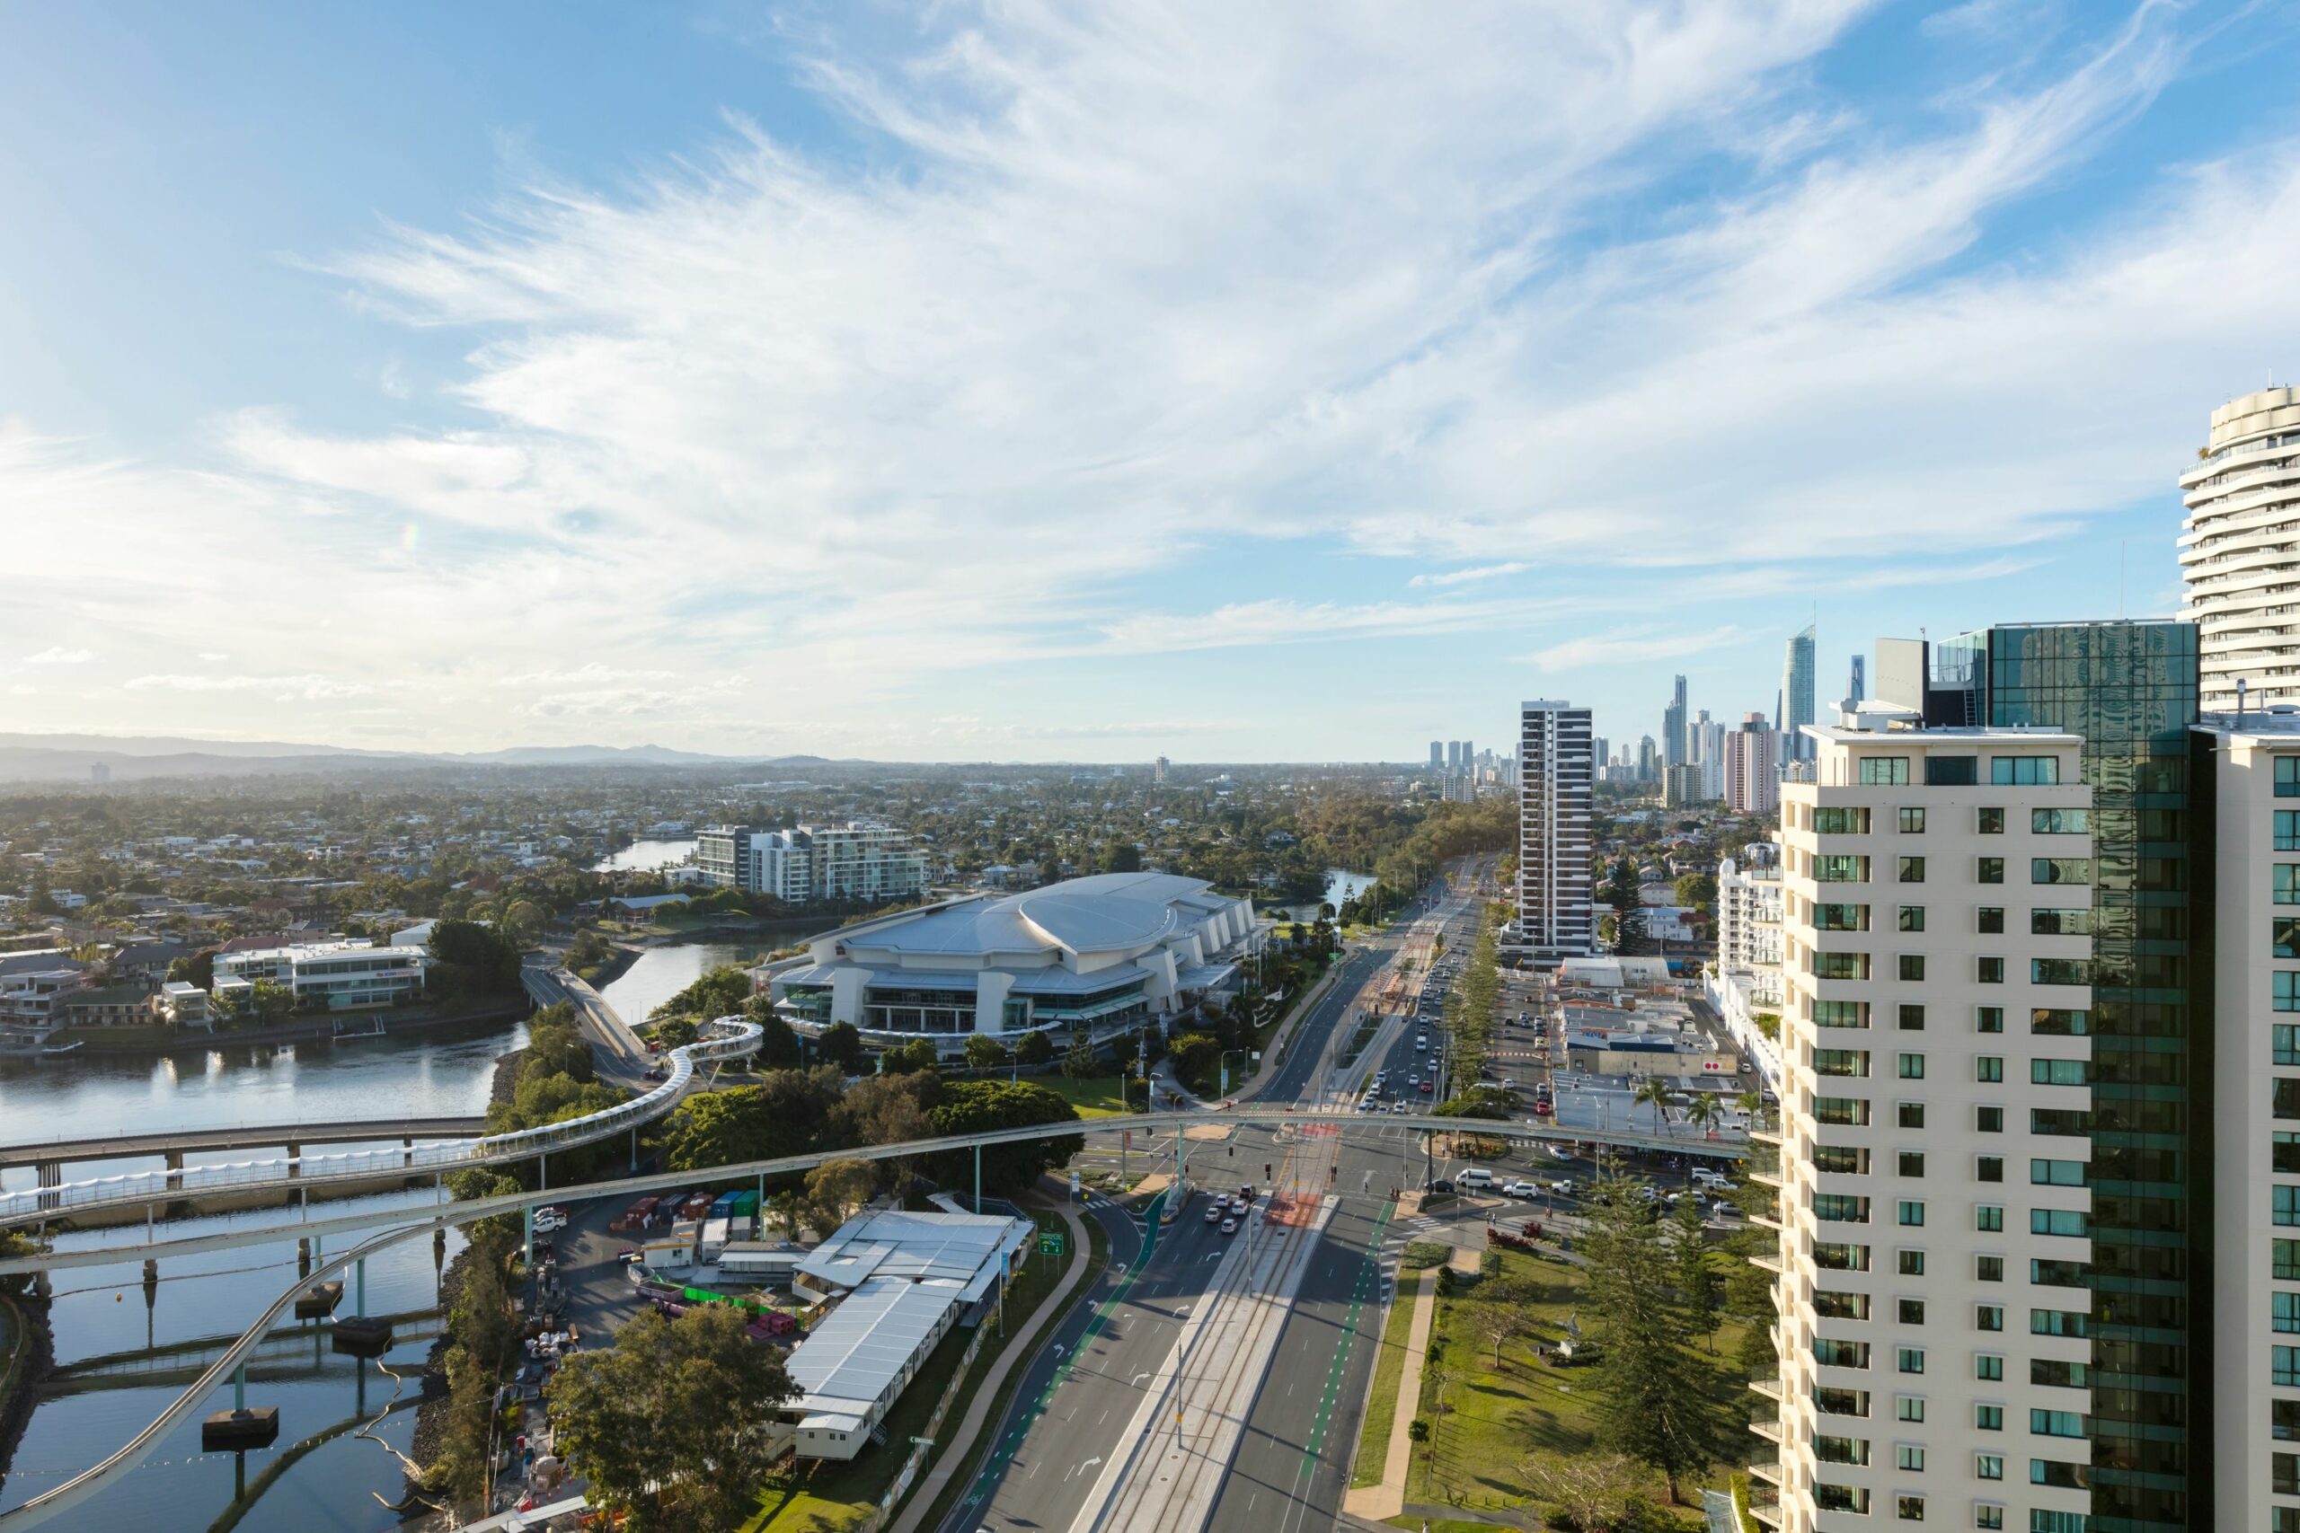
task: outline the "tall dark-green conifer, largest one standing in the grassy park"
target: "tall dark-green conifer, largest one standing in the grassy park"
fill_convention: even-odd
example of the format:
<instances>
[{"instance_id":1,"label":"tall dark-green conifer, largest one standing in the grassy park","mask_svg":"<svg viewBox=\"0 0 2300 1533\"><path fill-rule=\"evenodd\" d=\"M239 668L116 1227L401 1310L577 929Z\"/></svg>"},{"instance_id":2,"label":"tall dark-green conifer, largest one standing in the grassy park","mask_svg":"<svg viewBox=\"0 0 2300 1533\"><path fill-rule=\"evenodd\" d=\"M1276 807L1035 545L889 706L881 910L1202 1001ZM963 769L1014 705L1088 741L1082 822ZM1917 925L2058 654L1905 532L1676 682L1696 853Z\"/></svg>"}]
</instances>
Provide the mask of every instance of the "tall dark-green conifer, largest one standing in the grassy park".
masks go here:
<instances>
[{"instance_id":1,"label":"tall dark-green conifer, largest one standing in the grassy park","mask_svg":"<svg viewBox=\"0 0 2300 1533\"><path fill-rule=\"evenodd\" d=\"M1626 1184L1605 1184L1582 1237L1589 1308L1598 1317L1596 1434L1610 1453L1679 1480L1707 1462L1713 1407L1707 1365L1686 1345L1697 1328L1677 1289L1681 1266L1658 1218Z\"/></svg>"}]
</instances>

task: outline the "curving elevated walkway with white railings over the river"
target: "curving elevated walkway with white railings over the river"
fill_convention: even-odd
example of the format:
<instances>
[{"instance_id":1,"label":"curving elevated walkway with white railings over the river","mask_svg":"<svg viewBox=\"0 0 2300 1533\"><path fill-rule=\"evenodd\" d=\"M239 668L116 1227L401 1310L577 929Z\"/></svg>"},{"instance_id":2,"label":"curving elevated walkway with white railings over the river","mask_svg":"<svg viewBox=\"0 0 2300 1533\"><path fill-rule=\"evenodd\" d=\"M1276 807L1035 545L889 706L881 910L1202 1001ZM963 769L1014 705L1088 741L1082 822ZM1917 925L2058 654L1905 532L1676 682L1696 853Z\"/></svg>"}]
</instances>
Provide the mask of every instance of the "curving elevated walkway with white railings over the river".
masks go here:
<instances>
[{"instance_id":1,"label":"curving elevated walkway with white railings over the river","mask_svg":"<svg viewBox=\"0 0 2300 1533\"><path fill-rule=\"evenodd\" d=\"M764 1030L741 1016L704 1023L702 1037L672 1050L669 1076L653 1092L632 1096L586 1117L564 1124L488 1133L465 1140L423 1140L398 1149L347 1149L331 1156L274 1156L267 1161L230 1161L223 1165L184 1165L179 1170L122 1172L87 1181L0 1193L0 1225L23 1225L85 1209L136 1207L246 1188L299 1188L324 1181L402 1177L409 1172L451 1172L471 1165L499 1165L591 1145L612 1133L637 1128L678 1106L695 1083L695 1066L741 1060L759 1050Z\"/></svg>"}]
</instances>

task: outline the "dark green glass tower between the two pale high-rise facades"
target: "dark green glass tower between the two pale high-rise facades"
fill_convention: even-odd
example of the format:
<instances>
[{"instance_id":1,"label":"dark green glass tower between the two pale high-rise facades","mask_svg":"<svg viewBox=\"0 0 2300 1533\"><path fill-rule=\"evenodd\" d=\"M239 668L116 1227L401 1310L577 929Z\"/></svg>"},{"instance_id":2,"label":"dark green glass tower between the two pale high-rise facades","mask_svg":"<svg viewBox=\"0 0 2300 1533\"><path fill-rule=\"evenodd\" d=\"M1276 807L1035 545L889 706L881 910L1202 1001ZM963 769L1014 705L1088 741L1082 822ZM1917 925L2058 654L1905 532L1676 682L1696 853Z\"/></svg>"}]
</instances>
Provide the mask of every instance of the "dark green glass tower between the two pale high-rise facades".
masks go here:
<instances>
[{"instance_id":1,"label":"dark green glass tower between the two pale high-rise facades","mask_svg":"<svg viewBox=\"0 0 2300 1533\"><path fill-rule=\"evenodd\" d=\"M2206 784L2192 623L2006 625L1941 646L1978 722L2084 738L2093 788L2088 1533L2208 1528L2210 1080ZM1962 671L1962 676L1957 676ZM1969 680L1966 680L1969 678ZM2201 919L2196 919L2201 915ZM2194 945L2194 947L2192 947Z\"/></svg>"}]
</instances>

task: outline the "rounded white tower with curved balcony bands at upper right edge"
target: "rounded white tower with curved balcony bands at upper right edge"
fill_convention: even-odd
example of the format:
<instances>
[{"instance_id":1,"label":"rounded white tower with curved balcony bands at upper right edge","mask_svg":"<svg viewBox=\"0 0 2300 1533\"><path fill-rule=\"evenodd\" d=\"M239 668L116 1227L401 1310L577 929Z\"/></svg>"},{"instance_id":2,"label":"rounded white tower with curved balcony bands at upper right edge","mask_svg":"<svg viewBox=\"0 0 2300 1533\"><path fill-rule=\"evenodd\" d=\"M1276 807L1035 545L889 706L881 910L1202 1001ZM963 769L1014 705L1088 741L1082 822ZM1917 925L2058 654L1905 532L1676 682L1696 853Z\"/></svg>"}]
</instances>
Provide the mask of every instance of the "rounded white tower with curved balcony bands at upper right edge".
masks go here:
<instances>
[{"instance_id":1,"label":"rounded white tower with curved balcony bands at upper right edge","mask_svg":"<svg viewBox=\"0 0 2300 1533\"><path fill-rule=\"evenodd\" d=\"M2199 706L2233 712L2238 678L2254 703L2300 701L2300 388L2215 409L2180 496L2180 618L2199 630Z\"/></svg>"}]
</instances>

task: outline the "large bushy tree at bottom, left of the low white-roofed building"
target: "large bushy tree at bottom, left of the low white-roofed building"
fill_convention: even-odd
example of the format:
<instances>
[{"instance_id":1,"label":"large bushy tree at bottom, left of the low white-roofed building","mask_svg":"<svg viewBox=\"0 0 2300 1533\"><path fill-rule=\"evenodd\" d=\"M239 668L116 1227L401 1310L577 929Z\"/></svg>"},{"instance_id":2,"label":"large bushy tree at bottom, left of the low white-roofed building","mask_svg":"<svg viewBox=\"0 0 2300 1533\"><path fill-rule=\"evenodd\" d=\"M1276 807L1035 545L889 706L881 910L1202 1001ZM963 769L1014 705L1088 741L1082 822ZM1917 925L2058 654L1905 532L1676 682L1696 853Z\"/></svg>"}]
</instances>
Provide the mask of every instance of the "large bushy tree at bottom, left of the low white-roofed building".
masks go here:
<instances>
[{"instance_id":1,"label":"large bushy tree at bottom, left of the low white-roofed building","mask_svg":"<svg viewBox=\"0 0 2300 1533\"><path fill-rule=\"evenodd\" d=\"M621 1512L630 1533L729 1533L757 1512L773 1462L759 1423L796 1393L743 1310L706 1303L676 1322L642 1310L614 1347L570 1356L550 1416L591 1505Z\"/></svg>"}]
</instances>

